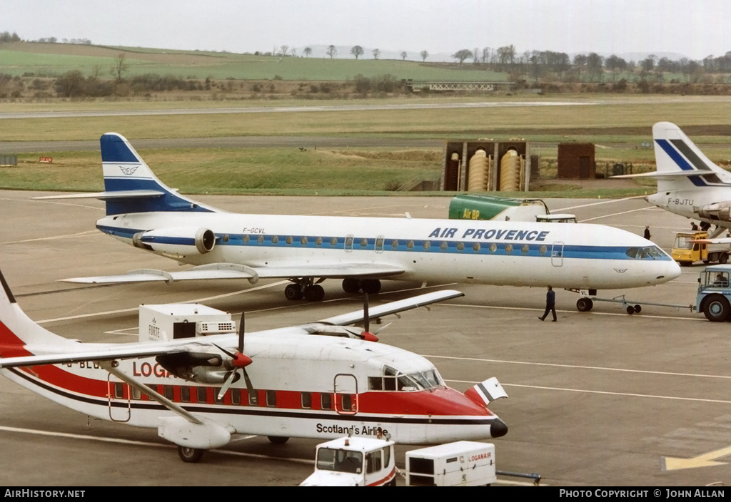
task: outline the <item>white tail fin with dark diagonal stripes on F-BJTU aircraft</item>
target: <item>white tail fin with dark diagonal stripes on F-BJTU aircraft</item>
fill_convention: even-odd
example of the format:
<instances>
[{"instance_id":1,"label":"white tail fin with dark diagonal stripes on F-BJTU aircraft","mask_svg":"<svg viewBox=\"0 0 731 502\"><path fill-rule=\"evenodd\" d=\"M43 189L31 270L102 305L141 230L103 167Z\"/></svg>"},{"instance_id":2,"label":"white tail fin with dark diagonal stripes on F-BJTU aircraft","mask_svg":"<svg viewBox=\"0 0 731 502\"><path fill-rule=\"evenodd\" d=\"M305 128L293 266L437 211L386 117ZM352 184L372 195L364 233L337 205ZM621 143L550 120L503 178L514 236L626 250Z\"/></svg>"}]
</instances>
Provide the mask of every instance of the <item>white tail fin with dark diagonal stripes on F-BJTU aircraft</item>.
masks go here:
<instances>
[{"instance_id":1,"label":"white tail fin with dark diagonal stripes on F-BJTU aircraft","mask_svg":"<svg viewBox=\"0 0 731 502\"><path fill-rule=\"evenodd\" d=\"M658 192L731 183L731 174L711 162L677 125L656 123L652 136Z\"/></svg>"}]
</instances>

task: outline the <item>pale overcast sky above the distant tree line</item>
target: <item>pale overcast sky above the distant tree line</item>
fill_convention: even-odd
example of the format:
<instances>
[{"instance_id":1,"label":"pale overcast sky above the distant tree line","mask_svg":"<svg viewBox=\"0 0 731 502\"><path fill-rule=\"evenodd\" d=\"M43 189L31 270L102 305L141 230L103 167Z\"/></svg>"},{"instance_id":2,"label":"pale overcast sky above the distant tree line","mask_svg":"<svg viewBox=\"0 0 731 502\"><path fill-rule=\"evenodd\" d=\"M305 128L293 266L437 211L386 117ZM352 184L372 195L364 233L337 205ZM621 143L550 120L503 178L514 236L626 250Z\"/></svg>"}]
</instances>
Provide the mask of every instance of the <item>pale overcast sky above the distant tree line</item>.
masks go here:
<instances>
[{"instance_id":1,"label":"pale overcast sky above the distant tree line","mask_svg":"<svg viewBox=\"0 0 731 502\"><path fill-rule=\"evenodd\" d=\"M100 45L270 51L338 45L431 54L731 51L727 0L0 0L0 31ZM349 57L341 53L340 57Z\"/></svg>"}]
</instances>

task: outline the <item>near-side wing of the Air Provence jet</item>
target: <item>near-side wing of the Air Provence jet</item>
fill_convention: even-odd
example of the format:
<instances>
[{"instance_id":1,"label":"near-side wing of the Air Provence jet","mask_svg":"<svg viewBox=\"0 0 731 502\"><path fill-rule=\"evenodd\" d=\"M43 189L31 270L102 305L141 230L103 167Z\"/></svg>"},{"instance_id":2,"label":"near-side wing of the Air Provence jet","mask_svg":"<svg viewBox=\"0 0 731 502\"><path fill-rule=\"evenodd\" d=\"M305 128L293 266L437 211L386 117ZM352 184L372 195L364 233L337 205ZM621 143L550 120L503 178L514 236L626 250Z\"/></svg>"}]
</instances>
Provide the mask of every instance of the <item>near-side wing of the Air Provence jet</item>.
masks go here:
<instances>
[{"instance_id":1,"label":"near-side wing of the Air Provence jet","mask_svg":"<svg viewBox=\"0 0 731 502\"><path fill-rule=\"evenodd\" d=\"M290 279L292 277L388 277L402 274L404 269L387 263L287 263L287 266L268 265L249 267L235 263L212 263L194 269L167 272L155 269L132 270L121 275L71 277L63 282L82 284L113 284L123 282L167 282L197 279Z\"/></svg>"}]
</instances>

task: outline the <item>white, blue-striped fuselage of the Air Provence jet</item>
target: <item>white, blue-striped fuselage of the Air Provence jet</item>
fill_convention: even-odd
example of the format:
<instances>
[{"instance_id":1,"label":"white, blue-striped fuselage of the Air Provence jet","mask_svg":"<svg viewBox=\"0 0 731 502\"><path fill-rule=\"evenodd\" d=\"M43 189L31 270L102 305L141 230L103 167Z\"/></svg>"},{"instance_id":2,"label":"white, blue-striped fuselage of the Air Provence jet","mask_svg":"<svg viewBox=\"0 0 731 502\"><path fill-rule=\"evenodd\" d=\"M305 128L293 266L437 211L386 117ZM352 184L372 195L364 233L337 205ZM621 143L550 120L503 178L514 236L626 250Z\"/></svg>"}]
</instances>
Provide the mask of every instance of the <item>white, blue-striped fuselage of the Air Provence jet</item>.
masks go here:
<instances>
[{"instance_id":1,"label":"white, blue-striped fuselage of the Air Provence jet","mask_svg":"<svg viewBox=\"0 0 731 502\"><path fill-rule=\"evenodd\" d=\"M628 254L653 243L604 225L149 212L108 216L96 226L128 244L135 233L159 228L210 229L210 252L159 253L194 265L373 263L403 270L374 276L387 279L576 289L656 285L680 274L662 251L643 259Z\"/></svg>"}]
</instances>

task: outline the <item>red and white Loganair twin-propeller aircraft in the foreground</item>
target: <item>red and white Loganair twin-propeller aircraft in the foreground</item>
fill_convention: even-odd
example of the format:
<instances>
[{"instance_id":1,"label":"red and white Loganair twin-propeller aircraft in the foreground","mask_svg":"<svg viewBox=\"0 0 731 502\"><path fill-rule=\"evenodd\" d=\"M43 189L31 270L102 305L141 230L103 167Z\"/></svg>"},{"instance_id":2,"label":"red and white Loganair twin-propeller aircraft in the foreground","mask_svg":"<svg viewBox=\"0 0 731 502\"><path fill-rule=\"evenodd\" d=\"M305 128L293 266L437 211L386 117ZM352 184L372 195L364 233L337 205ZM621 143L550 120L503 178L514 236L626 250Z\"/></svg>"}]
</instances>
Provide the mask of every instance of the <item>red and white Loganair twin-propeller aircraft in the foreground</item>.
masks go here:
<instances>
[{"instance_id":1,"label":"red and white Loganair twin-propeller aircraft in the foreground","mask_svg":"<svg viewBox=\"0 0 731 502\"><path fill-rule=\"evenodd\" d=\"M159 436L178 445L186 462L197 462L205 449L222 447L235 434L269 436L273 443L290 436L389 434L397 443L431 444L507 433L507 425L487 407L507 397L497 379L460 393L444 385L420 355L376 343L363 328L346 327L462 296L459 291L371 307L368 314L364 308L317 323L246 333L246 341L243 323L237 336L231 320L194 322L198 310L207 307L189 305L196 309L187 311L190 322L178 323L173 333L164 333L154 319L140 326L139 342L92 344L64 339L34 323L1 273L0 282L4 376L83 414L157 428ZM221 332L227 333L204 334Z\"/></svg>"}]
</instances>

